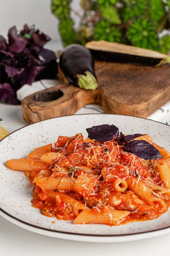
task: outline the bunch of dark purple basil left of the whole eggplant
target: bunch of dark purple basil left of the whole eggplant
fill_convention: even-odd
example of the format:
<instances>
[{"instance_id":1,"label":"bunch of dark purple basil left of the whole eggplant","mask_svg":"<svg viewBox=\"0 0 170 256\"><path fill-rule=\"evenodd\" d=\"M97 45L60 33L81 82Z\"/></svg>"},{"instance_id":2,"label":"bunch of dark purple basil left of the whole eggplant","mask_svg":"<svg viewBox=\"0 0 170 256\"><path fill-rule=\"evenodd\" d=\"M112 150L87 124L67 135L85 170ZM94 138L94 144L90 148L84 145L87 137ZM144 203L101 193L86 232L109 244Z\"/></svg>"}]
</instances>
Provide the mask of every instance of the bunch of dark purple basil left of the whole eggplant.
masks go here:
<instances>
[{"instance_id":1,"label":"bunch of dark purple basil left of the whole eggplant","mask_svg":"<svg viewBox=\"0 0 170 256\"><path fill-rule=\"evenodd\" d=\"M57 79L56 55L43 49L49 40L49 36L28 25L19 32L11 27L7 41L0 36L0 101L18 104L16 91L22 85Z\"/></svg>"}]
</instances>

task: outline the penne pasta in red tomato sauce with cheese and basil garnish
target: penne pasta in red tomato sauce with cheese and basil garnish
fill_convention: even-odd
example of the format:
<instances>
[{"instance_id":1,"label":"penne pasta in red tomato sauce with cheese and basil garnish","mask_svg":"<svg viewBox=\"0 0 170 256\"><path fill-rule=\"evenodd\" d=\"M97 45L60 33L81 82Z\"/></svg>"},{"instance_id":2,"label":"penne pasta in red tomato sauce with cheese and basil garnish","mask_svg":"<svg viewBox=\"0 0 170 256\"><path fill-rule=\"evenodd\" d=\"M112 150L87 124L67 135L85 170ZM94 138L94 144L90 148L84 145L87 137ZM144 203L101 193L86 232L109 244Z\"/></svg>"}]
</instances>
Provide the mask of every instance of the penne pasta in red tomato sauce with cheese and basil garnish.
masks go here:
<instances>
[{"instance_id":1,"label":"penne pasta in red tomato sauce with cheese and basil garnish","mask_svg":"<svg viewBox=\"0 0 170 256\"><path fill-rule=\"evenodd\" d=\"M170 153L149 135L116 126L86 129L40 146L8 168L33 185L32 206L73 224L120 225L151 220L170 206Z\"/></svg>"}]
</instances>

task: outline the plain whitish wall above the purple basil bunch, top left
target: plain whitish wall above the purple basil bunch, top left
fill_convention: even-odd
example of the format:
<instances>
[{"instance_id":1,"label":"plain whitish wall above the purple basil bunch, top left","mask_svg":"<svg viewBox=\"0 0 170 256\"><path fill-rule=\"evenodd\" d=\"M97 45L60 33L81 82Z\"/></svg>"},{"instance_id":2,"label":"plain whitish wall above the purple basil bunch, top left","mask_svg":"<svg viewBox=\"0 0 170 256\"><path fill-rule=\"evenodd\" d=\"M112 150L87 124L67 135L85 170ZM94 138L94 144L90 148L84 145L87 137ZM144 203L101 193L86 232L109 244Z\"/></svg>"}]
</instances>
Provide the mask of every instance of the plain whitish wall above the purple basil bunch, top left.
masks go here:
<instances>
[{"instance_id":1,"label":"plain whitish wall above the purple basil bunch, top left","mask_svg":"<svg viewBox=\"0 0 170 256\"><path fill-rule=\"evenodd\" d=\"M79 9L79 0L72 0L71 6ZM51 0L0 0L0 35L7 38L7 32L14 25L18 30L24 24L35 25L36 29L60 40L58 19L51 11Z\"/></svg>"}]
</instances>

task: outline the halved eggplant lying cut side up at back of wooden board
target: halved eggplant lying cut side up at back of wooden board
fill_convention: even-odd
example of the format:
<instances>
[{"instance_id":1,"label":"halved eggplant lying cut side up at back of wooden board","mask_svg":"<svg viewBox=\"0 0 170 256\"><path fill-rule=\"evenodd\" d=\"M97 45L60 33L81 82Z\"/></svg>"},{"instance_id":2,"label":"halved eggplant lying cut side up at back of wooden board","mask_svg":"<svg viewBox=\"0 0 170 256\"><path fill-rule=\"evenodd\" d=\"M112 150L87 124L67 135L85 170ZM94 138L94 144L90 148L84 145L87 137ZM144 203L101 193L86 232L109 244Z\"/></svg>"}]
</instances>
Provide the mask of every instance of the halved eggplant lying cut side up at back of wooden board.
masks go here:
<instances>
[{"instance_id":1,"label":"halved eggplant lying cut side up at back of wooden board","mask_svg":"<svg viewBox=\"0 0 170 256\"><path fill-rule=\"evenodd\" d=\"M143 63L149 66L170 63L170 56L150 49L112 43L104 40L91 41L85 47L98 61L118 63Z\"/></svg>"}]
</instances>

